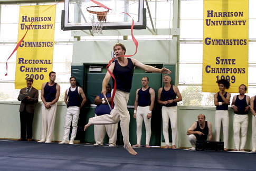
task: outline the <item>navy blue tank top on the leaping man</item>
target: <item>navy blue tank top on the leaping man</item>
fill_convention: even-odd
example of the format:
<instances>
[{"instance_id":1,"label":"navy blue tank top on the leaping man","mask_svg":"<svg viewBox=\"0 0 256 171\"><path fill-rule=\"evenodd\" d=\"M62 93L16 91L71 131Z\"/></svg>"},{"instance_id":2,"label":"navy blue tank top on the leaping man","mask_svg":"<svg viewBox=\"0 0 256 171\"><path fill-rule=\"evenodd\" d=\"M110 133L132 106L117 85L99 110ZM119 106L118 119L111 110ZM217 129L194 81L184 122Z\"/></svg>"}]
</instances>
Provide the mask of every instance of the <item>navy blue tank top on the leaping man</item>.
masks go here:
<instances>
[{"instance_id":1,"label":"navy blue tank top on the leaping man","mask_svg":"<svg viewBox=\"0 0 256 171\"><path fill-rule=\"evenodd\" d=\"M127 58L128 64L122 67L118 60L115 61L115 67L113 69L113 75L117 81L117 89L130 92L132 76L134 75L134 63L132 63L130 58ZM112 81L114 82L115 80Z\"/></svg>"}]
</instances>

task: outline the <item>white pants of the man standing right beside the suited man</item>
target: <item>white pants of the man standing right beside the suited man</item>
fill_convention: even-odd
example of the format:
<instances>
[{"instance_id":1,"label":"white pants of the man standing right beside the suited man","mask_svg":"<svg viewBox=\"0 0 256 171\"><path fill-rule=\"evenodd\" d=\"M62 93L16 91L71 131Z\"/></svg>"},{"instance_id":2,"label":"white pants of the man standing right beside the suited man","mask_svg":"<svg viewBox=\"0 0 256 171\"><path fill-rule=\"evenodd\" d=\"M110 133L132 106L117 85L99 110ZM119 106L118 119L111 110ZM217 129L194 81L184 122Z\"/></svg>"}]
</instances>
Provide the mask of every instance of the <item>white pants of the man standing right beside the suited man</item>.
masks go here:
<instances>
[{"instance_id":1,"label":"white pants of the man standing right beside the suited man","mask_svg":"<svg viewBox=\"0 0 256 171\"><path fill-rule=\"evenodd\" d=\"M53 129L55 124L57 103L54 103L50 109L42 105L42 135L41 139L52 141Z\"/></svg>"}]
</instances>

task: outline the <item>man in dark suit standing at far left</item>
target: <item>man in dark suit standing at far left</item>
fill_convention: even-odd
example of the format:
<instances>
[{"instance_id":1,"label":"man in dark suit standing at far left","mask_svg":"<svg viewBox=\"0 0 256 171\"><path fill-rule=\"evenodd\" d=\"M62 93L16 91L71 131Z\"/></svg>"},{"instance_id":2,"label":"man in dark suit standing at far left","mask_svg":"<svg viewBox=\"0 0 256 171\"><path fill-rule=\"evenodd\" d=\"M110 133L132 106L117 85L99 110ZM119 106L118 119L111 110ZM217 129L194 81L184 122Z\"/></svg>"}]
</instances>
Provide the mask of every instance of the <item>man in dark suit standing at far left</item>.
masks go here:
<instances>
[{"instance_id":1,"label":"man in dark suit standing at far left","mask_svg":"<svg viewBox=\"0 0 256 171\"><path fill-rule=\"evenodd\" d=\"M28 78L27 87L21 89L18 94L18 101L21 101L20 106L20 120L21 120L21 141L32 141L33 118L35 111L35 103L38 102L38 90L32 87L33 79ZM26 139L27 133L27 139Z\"/></svg>"}]
</instances>

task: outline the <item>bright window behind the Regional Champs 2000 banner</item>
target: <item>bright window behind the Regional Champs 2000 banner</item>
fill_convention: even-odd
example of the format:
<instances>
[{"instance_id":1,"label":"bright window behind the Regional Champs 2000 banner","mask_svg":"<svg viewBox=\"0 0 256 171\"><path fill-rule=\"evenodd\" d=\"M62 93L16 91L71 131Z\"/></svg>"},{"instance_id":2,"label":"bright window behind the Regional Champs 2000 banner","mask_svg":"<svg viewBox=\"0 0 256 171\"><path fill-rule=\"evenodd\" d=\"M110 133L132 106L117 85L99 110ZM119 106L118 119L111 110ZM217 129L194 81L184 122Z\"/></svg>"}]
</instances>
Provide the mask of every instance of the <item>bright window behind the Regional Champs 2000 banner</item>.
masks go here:
<instances>
[{"instance_id":1,"label":"bright window behind the Regional Champs 2000 banner","mask_svg":"<svg viewBox=\"0 0 256 171\"><path fill-rule=\"evenodd\" d=\"M8 75L6 73L6 64L8 57L16 47L18 36L18 16L20 6L24 5L50 5L53 3L18 3L18 4L0 4L1 24L0 24L0 100L17 101L20 90L14 88L16 52L8 60ZM64 9L64 3L56 4L54 52L53 52L53 71L56 72L56 82L61 86L61 96L59 101L64 101L64 93L70 87L69 78L71 75L73 37L71 31L62 31L61 28L61 10ZM24 84L25 85L25 84ZM39 90L41 93L41 90ZM39 94L40 96L40 94ZM39 98L41 101L41 98Z\"/></svg>"}]
</instances>

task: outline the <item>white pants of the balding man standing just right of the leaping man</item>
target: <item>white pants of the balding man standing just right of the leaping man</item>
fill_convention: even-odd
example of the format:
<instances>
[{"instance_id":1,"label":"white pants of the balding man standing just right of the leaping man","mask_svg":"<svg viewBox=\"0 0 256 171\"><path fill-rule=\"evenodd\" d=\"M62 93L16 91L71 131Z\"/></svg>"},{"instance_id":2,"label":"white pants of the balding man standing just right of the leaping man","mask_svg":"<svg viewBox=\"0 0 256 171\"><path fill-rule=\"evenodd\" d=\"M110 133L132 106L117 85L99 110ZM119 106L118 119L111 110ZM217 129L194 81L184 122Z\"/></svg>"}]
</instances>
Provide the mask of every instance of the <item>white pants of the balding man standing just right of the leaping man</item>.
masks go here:
<instances>
[{"instance_id":1,"label":"white pants of the balding man standing just right of the leaping man","mask_svg":"<svg viewBox=\"0 0 256 171\"><path fill-rule=\"evenodd\" d=\"M151 137L151 118L148 119L148 111L149 111L150 106L138 106L137 107L137 113L136 113L136 125L137 125L137 144L140 145L141 141L141 129L142 129L142 124L144 120L145 124L145 129L146 129L146 145L149 145L150 137Z\"/></svg>"}]
</instances>

